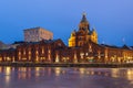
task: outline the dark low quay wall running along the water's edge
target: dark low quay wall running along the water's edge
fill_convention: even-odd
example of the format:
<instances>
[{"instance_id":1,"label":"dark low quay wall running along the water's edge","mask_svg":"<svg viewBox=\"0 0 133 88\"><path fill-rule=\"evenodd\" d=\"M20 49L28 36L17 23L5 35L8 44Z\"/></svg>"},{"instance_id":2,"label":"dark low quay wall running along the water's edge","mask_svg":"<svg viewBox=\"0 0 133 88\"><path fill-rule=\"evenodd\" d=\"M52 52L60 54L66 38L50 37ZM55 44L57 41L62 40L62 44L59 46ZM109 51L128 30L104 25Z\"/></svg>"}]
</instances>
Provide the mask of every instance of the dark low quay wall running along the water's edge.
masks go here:
<instances>
[{"instance_id":1,"label":"dark low quay wall running along the water's edge","mask_svg":"<svg viewBox=\"0 0 133 88\"><path fill-rule=\"evenodd\" d=\"M116 64L116 63L0 63L0 66L12 67L96 67L96 68L121 68L133 67L133 64Z\"/></svg>"}]
</instances>

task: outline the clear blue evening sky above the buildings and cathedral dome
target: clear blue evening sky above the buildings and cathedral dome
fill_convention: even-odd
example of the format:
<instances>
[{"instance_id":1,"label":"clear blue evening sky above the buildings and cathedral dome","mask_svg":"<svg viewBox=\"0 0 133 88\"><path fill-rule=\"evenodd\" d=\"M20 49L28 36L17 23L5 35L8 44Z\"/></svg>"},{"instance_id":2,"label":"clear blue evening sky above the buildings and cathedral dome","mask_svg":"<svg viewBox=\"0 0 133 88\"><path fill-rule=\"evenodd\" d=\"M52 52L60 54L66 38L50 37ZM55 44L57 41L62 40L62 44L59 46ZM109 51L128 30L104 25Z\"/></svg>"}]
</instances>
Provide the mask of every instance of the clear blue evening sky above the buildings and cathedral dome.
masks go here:
<instances>
[{"instance_id":1,"label":"clear blue evening sky above the buildings and cathedral dome","mask_svg":"<svg viewBox=\"0 0 133 88\"><path fill-rule=\"evenodd\" d=\"M0 41L23 41L24 29L42 26L68 44L84 11L99 43L133 46L133 0L0 0Z\"/></svg>"}]
</instances>

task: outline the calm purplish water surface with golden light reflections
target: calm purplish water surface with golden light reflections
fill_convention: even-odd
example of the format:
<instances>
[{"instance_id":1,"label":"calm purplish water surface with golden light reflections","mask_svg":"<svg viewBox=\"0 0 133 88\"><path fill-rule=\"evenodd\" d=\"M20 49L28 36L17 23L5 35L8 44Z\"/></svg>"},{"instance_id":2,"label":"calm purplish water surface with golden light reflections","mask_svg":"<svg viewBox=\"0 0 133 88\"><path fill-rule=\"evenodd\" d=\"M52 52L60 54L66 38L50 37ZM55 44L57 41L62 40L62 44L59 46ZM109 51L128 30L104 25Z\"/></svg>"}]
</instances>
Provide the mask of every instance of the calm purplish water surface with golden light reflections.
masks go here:
<instances>
[{"instance_id":1,"label":"calm purplish water surface with golden light reflections","mask_svg":"<svg viewBox=\"0 0 133 88\"><path fill-rule=\"evenodd\" d=\"M133 68L0 67L0 88L133 88Z\"/></svg>"}]
</instances>

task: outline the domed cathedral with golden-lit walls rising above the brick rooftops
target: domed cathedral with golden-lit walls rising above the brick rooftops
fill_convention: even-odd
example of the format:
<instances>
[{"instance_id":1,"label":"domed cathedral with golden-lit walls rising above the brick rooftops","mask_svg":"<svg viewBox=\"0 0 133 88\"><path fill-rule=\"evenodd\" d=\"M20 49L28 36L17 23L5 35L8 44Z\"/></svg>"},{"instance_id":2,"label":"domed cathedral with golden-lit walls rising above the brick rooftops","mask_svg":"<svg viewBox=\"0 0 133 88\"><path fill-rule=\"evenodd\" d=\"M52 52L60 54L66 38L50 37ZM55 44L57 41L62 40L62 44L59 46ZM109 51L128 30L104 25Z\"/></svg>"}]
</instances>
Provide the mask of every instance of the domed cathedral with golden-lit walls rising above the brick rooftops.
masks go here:
<instances>
[{"instance_id":1,"label":"domed cathedral with golden-lit walls rising above the brick rooftops","mask_svg":"<svg viewBox=\"0 0 133 88\"><path fill-rule=\"evenodd\" d=\"M71 33L69 47L83 46L90 40L98 44L98 33L94 29L92 31L90 30L89 21L86 20L85 13L83 13L78 32L74 30Z\"/></svg>"}]
</instances>

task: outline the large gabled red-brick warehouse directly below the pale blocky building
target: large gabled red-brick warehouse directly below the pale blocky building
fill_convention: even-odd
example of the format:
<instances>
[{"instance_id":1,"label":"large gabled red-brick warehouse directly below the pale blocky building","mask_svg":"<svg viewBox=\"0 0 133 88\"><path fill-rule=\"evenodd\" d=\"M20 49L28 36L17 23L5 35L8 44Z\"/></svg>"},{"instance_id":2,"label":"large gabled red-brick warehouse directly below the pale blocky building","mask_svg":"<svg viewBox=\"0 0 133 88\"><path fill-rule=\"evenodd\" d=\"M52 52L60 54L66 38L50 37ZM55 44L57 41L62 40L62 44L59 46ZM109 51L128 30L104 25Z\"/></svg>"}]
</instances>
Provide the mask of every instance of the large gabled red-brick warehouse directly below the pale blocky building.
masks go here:
<instances>
[{"instance_id":1,"label":"large gabled red-brick warehouse directly below the pale blocky building","mask_svg":"<svg viewBox=\"0 0 133 88\"><path fill-rule=\"evenodd\" d=\"M17 47L17 62L53 63L54 51L63 47L64 43L61 40L23 43Z\"/></svg>"}]
</instances>

